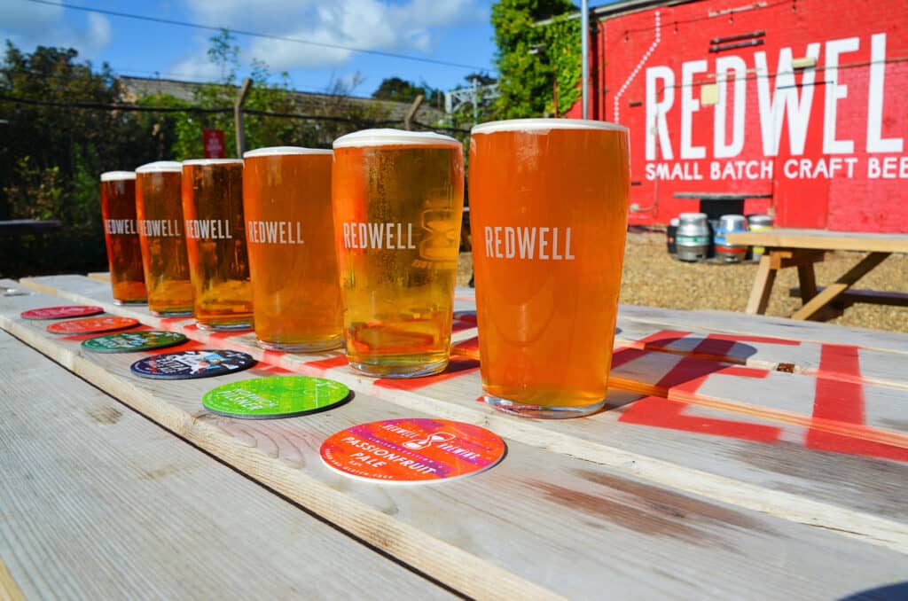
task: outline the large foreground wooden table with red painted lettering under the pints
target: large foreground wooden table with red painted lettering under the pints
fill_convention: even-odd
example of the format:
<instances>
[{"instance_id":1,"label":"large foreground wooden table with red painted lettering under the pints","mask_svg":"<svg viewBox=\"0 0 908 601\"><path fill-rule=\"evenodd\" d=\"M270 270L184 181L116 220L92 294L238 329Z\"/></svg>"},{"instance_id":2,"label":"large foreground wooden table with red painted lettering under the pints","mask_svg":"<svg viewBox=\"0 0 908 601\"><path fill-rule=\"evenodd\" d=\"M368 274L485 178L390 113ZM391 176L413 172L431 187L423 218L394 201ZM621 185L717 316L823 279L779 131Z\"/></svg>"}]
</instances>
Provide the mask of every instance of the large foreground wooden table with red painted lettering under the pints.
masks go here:
<instances>
[{"instance_id":1,"label":"large foreground wooden table with red painted lettering under the pints","mask_svg":"<svg viewBox=\"0 0 908 601\"><path fill-rule=\"evenodd\" d=\"M260 362L141 379L146 353L20 317L73 303ZM114 305L97 279L0 281L0 597L831 599L903 580L908 336L623 306L607 409L544 421L477 402L474 303L457 290L450 369L391 380ZM288 372L355 397L293 419L202 406ZM507 456L419 486L322 464L331 434L404 417L490 429Z\"/></svg>"}]
</instances>

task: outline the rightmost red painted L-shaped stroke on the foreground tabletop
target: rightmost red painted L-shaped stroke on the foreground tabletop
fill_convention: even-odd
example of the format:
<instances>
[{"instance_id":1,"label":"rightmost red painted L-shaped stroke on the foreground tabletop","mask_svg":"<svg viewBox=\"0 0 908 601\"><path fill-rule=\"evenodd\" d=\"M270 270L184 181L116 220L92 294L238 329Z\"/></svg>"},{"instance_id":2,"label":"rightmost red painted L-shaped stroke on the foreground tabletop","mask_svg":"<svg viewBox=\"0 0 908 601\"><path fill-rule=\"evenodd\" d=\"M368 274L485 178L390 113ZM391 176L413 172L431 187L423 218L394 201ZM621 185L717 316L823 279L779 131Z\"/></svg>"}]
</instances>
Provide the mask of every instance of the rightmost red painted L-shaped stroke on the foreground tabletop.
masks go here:
<instances>
[{"instance_id":1,"label":"rightmost red painted L-shaped stroke on the foreground tabletop","mask_svg":"<svg viewBox=\"0 0 908 601\"><path fill-rule=\"evenodd\" d=\"M824 344L820 353L820 370L861 378L858 347ZM864 386L857 382L817 378L814 395L814 419L864 426ZM859 434L859 431L857 432ZM863 438L844 436L822 429L810 429L807 448L852 455L908 461L908 448L899 448Z\"/></svg>"}]
</instances>

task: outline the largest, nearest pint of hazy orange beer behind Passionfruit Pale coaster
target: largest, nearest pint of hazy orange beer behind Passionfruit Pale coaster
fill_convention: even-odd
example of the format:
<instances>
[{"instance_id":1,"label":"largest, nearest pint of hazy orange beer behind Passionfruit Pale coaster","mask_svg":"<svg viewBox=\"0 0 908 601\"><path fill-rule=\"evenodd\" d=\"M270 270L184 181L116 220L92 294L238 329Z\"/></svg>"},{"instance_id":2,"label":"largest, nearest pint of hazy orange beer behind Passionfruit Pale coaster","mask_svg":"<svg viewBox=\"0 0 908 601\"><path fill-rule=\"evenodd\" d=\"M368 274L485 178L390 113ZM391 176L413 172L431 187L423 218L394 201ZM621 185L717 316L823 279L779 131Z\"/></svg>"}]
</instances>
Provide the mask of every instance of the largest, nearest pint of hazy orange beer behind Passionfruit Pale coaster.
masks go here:
<instances>
[{"instance_id":1,"label":"largest, nearest pint of hazy orange beer behind Passionfruit Pale coaster","mask_svg":"<svg viewBox=\"0 0 908 601\"><path fill-rule=\"evenodd\" d=\"M603 406L627 232L627 129L472 129L469 201L485 399L535 418Z\"/></svg>"}]
</instances>

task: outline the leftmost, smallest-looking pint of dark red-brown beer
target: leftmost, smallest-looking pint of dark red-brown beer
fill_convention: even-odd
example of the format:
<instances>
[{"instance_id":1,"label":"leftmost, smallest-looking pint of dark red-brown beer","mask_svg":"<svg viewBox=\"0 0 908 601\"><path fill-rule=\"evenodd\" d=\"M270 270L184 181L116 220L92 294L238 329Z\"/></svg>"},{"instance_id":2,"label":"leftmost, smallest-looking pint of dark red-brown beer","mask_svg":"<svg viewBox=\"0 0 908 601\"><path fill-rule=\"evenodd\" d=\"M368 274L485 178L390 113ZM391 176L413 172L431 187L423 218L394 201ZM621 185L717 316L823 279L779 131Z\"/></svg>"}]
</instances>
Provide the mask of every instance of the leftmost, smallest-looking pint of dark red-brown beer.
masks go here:
<instances>
[{"instance_id":1,"label":"leftmost, smallest-looking pint of dark red-brown beer","mask_svg":"<svg viewBox=\"0 0 908 601\"><path fill-rule=\"evenodd\" d=\"M114 304L145 302L142 250L135 225L135 173L101 174L101 213Z\"/></svg>"}]
</instances>

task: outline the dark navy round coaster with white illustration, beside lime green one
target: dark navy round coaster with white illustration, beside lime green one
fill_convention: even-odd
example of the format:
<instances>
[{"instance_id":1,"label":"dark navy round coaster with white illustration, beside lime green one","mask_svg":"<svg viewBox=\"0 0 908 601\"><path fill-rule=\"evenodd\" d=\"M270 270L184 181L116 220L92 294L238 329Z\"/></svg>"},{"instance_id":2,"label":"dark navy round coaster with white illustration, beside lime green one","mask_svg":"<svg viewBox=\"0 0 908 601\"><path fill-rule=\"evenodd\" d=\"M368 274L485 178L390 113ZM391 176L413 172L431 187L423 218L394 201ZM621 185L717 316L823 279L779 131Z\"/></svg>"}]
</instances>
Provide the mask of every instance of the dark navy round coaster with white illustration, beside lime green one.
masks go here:
<instances>
[{"instance_id":1,"label":"dark navy round coaster with white illustration, beside lime green one","mask_svg":"<svg viewBox=\"0 0 908 601\"><path fill-rule=\"evenodd\" d=\"M130 369L152 379L211 378L255 365L252 355L239 350L180 350L137 360Z\"/></svg>"}]
</instances>

